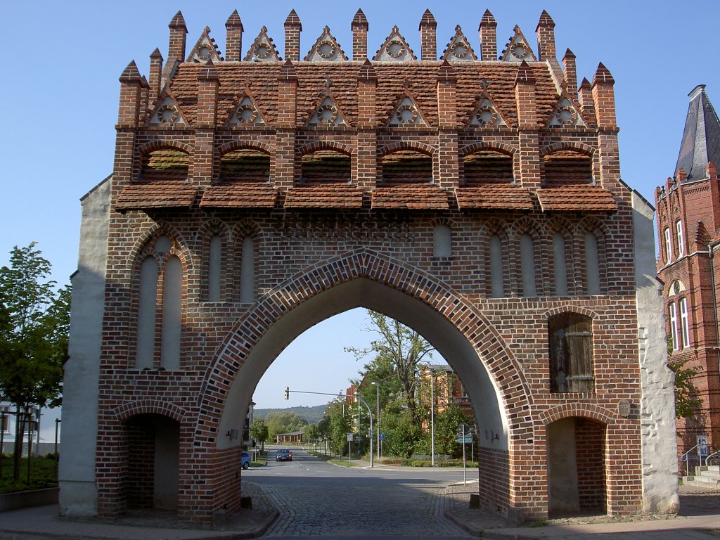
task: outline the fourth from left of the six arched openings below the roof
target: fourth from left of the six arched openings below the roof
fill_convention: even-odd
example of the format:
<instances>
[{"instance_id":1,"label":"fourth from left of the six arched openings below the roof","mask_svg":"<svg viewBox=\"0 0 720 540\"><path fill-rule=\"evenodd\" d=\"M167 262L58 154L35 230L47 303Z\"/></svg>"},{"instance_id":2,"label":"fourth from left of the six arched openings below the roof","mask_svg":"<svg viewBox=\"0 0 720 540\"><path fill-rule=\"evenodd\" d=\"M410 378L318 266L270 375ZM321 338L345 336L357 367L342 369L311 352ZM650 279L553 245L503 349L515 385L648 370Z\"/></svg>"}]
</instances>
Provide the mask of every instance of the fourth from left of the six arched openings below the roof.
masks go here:
<instances>
[{"instance_id":1,"label":"fourth from left of the six arched openings below the roof","mask_svg":"<svg viewBox=\"0 0 720 540\"><path fill-rule=\"evenodd\" d=\"M426 145L394 144L380 150L379 186L433 184L433 150Z\"/></svg>"}]
</instances>

